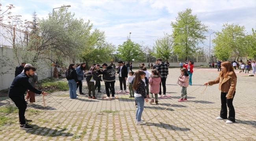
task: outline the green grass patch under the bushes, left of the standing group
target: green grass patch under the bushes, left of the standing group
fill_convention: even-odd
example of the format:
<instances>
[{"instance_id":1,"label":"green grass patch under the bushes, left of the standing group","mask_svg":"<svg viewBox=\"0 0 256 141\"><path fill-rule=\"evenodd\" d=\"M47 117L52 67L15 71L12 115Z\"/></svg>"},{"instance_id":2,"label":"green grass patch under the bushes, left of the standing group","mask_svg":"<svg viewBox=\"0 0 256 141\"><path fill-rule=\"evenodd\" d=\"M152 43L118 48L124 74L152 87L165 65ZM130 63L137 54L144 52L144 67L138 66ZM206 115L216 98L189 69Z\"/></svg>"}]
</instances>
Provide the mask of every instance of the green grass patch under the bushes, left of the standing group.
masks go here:
<instances>
[{"instance_id":1,"label":"green grass patch under the bushes, left of the standing group","mask_svg":"<svg viewBox=\"0 0 256 141\"><path fill-rule=\"evenodd\" d=\"M64 81L54 81L54 78L46 78L38 81L37 89L45 92L66 91L69 90L69 85Z\"/></svg>"}]
</instances>

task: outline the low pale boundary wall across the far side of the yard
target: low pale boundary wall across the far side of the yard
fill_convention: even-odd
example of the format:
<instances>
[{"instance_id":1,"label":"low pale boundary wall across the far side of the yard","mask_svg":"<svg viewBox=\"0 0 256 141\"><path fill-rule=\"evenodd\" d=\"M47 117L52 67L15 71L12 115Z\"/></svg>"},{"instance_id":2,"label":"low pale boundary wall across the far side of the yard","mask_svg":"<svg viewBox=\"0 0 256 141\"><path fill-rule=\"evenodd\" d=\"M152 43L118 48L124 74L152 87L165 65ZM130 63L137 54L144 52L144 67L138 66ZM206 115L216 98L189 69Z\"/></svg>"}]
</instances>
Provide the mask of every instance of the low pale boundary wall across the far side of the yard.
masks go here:
<instances>
[{"instance_id":1,"label":"low pale boundary wall across the far side of the yard","mask_svg":"<svg viewBox=\"0 0 256 141\"><path fill-rule=\"evenodd\" d=\"M184 62L183 62L184 63ZM107 63L108 65L110 65L110 63ZM118 63L117 62L113 62L113 64L117 65ZM133 67L139 67L139 64L141 65L142 63L132 63L132 66ZM148 67L148 63L144 63L145 64L145 67ZM88 63L89 67L91 67L91 65L93 65L93 63ZM154 63L153 63L154 65ZM201 65L208 65L207 62L194 62L194 66L195 67L199 67ZM150 63L150 66L151 66L151 63ZM180 67L180 62L171 62L169 67Z\"/></svg>"}]
</instances>

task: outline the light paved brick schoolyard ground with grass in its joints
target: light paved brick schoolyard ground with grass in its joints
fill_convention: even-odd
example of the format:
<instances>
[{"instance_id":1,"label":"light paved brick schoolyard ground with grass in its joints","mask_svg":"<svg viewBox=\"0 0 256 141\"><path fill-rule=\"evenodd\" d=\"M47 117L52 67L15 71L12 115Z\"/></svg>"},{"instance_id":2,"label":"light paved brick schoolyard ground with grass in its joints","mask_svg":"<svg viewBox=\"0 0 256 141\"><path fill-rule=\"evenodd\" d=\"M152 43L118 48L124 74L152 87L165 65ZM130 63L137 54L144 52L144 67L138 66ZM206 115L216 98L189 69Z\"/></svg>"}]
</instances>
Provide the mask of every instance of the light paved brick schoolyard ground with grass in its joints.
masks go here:
<instances>
[{"instance_id":1,"label":"light paved brick schoolyard ground with grass in its joints","mask_svg":"<svg viewBox=\"0 0 256 141\"><path fill-rule=\"evenodd\" d=\"M135 70L134 70L135 71ZM149 70L150 71L150 70ZM207 68L195 68L192 76L193 85L187 88L188 93L200 87L204 82L217 78L218 73ZM159 104L145 103L143 119L146 121L159 114L163 109L180 98L181 87L177 78L178 68L169 69L167 78L167 95L160 98ZM104 83L102 83L103 85ZM83 92L87 94L85 82ZM46 108L43 108L42 96L36 96L37 110L26 118L32 119L32 130L20 130L18 114L6 114L15 117L15 123L0 127L1 141L254 141L256 140L256 77L237 75L237 88L234 97L236 123L226 124L225 120L216 120L219 116L221 101L218 85L207 87L204 94L200 87L188 96L188 101L176 102L146 125L135 125L134 99L128 94L116 94L118 99L102 99L105 93L96 93L98 99L78 96L69 99L69 92L53 92L51 95L61 105L72 111L68 112L50 96L45 97ZM102 86L102 91L104 86ZM119 90L119 81L115 83ZM2 98L0 107L14 105L11 99ZM115 113L108 113L112 110ZM2 113L3 115L3 113ZM82 120L83 119L83 120Z\"/></svg>"}]
</instances>

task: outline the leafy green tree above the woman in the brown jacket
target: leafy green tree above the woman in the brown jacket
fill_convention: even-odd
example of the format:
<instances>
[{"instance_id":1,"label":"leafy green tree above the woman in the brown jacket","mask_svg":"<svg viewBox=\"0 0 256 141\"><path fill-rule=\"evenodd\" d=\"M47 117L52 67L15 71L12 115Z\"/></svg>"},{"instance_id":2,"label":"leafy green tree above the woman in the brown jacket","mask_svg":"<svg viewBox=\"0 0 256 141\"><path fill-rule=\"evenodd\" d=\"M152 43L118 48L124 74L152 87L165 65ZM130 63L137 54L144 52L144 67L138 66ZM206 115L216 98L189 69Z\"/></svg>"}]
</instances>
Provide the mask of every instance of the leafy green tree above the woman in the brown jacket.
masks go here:
<instances>
[{"instance_id":1,"label":"leafy green tree above the woman in the brown jacket","mask_svg":"<svg viewBox=\"0 0 256 141\"><path fill-rule=\"evenodd\" d=\"M248 49L245 34L244 26L223 24L221 32L216 32L216 38L212 40L214 43L214 53L217 53L215 56L219 55L226 58L235 55L236 61L238 61L240 56L245 56Z\"/></svg>"}]
</instances>

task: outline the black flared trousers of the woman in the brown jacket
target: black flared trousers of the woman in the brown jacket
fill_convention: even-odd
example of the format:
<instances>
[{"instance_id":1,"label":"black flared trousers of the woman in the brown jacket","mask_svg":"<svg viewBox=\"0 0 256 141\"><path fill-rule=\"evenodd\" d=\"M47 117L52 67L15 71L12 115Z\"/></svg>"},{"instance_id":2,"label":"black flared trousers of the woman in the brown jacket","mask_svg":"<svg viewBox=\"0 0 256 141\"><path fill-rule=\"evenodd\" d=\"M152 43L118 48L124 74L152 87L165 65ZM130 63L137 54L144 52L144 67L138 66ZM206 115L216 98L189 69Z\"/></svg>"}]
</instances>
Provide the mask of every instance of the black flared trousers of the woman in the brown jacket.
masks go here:
<instances>
[{"instance_id":1,"label":"black flared trousers of the woman in the brown jacket","mask_svg":"<svg viewBox=\"0 0 256 141\"><path fill-rule=\"evenodd\" d=\"M233 98L227 99L226 92L221 92L221 118L227 119L235 122L235 108L233 106L233 99L235 97L236 91L234 92ZM228 105L228 109L227 109ZM228 113L229 110L229 113ZM228 115L228 117L227 117Z\"/></svg>"}]
</instances>

